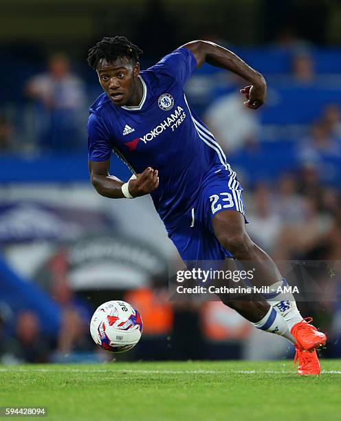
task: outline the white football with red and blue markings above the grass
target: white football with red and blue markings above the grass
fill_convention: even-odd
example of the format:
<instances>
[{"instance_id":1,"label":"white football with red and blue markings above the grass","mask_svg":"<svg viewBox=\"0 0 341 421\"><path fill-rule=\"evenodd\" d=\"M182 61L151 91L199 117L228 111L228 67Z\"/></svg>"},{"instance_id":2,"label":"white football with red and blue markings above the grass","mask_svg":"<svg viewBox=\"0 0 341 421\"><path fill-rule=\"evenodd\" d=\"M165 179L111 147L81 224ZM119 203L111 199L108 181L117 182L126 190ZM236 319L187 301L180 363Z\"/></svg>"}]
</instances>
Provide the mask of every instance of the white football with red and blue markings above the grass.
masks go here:
<instances>
[{"instance_id":1,"label":"white football with red and blue markings above the grass","mask_svg":"<svg viewBox=\"0 0 341 421\"><path fill-rule=\"evenodd\" d=\"M126 352L142 335L140 313L125 301L100 305L90 322L91 336L97 345L111 352Z\"/></svg>"}]
</instances>

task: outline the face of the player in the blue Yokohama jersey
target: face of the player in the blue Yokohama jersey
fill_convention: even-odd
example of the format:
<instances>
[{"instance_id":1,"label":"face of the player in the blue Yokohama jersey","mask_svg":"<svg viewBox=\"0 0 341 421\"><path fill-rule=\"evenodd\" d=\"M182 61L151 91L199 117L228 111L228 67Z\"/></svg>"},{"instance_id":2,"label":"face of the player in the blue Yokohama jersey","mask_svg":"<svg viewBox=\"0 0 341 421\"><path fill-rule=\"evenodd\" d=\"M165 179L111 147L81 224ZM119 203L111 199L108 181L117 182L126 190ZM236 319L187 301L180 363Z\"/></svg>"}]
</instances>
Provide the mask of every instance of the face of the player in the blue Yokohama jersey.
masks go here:
<instances>
[{"instance_id":1,"label":"face of the player in the blue Yokohama jersey","mask_svg":"<svg viewBox=\"0 0 341 421\"><path fill-rule=\"evenodd\" d=\"M97 67L100 85L113 103L119 107L136 105L133 102L137 100L135 96L139 72L139 63L134 66L125 57L118 58L113 62L102 59Z\"/></svg>"}]
</instances>

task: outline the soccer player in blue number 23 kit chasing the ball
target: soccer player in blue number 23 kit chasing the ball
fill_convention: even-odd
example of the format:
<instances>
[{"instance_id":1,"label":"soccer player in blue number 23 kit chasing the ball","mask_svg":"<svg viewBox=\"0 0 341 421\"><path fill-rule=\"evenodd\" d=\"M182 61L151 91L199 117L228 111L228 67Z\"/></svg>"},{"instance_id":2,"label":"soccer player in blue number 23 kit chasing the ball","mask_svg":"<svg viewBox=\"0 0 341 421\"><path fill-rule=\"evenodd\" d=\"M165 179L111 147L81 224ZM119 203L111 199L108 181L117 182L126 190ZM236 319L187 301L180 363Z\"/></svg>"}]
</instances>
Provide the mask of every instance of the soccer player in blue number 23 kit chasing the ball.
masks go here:
<instances>
[{"instance_id":1,"label":"soccer player in blue number 23 kit chasing the ball","mask_svg":"<svg viewBox=\"0 0 341 421\"><path fill-rule=\"evenodd\" d=\"M105 197L133 199L151 194L168 237L184 261L234 257L256 268L257 286L269 285L264 301L224 301L257 328L284 336L296 347L298 374L320 374L316 348L326 336L303 319L272 259L248 237L242 188L208 127L189 107L184 85L203 63L248 81L245 106L263 105L261 74L233 52L208 41L192 41L140 72L140 48L124 36L105 37L89 50L104 93L90 108L89 171ZM133 176L110 175L114 151ZM249 263L248 263L249 262Z\"/></svg>"}]
</instances>

